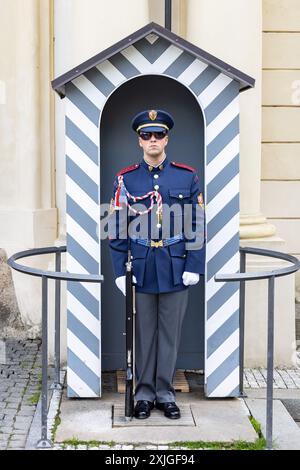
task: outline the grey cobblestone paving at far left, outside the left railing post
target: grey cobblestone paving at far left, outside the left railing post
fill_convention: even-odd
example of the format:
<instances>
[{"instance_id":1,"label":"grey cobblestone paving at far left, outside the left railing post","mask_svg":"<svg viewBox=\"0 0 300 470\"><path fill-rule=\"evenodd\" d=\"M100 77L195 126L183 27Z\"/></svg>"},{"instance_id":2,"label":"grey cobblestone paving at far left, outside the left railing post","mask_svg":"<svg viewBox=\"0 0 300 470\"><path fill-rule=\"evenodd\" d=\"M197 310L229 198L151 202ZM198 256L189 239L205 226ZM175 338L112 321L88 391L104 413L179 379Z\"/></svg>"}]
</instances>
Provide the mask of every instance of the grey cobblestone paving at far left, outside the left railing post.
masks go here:
<instances>
[{"instance_id":1,"label":"grey cobblestone paving at far left, outside the left railing post","mask_svg":"<svg viewBox=\"0 0 300 470\"><path fill-rule=\"evenodd\" d=\"M1 341L0 450L24 449L39 398L40 341Z\"/></svg>"}]
</instances>

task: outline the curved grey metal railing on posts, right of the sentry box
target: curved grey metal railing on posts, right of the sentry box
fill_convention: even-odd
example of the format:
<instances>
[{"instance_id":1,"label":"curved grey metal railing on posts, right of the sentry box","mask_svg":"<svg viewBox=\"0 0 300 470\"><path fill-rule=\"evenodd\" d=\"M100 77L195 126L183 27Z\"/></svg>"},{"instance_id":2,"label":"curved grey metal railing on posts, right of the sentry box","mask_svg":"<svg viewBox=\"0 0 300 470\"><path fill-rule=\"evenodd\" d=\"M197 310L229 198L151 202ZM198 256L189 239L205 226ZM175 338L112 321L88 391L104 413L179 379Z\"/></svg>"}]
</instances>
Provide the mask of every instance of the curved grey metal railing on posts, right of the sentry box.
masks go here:
<instances>
[{"instance_id":1,"label":"curved grey metal railing on posts, right of the sentry box","mask_svg":"<svg viewBox=\"0 0 300 470\"><path fill-rule=\"evenodd\" d=\"M292 263L286 268L272 271L246 273L246 254L269 256ZM267 402L266 402L266 440L267 449L273 446L273 375L274 375L274 299L275 278L287 276L300 269L300 261L291 255L263 248L240 248L240 272L234 274L216 274L216 282L240 282L240 396L244 395L244 337L245 337L245 282L268 279L268 344L267 344Z\"/></svg>"}]
</instances>

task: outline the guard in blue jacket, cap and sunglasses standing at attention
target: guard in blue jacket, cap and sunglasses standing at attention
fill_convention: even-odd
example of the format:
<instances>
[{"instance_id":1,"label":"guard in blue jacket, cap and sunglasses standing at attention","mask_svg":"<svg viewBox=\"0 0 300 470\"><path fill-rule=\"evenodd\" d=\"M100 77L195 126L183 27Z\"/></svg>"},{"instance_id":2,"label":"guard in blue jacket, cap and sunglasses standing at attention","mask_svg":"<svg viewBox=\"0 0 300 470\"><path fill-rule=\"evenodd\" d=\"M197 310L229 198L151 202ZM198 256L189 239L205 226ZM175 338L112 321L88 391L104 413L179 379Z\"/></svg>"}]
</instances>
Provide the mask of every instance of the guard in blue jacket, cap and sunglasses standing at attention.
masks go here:
<instances>
[{"instance_id":1,"label":"guard in blue jacket, cap and sunglasses standing at attention","mask_svg":"<svg viewBox=\"0 0 300 470\"><path fill-rule=\"evenodd\" d=\"M189 286L205 269L203 189L194 168L166 156L173 125L172 116L162 110L135 116L132 128L144 155L117 173L111 200L109 242L116 285L125 295L128 249L136 285L139 419L148 418L154 406L168 418L180 418L172 381L181 327Z\"/></svg>"}]
</instances>

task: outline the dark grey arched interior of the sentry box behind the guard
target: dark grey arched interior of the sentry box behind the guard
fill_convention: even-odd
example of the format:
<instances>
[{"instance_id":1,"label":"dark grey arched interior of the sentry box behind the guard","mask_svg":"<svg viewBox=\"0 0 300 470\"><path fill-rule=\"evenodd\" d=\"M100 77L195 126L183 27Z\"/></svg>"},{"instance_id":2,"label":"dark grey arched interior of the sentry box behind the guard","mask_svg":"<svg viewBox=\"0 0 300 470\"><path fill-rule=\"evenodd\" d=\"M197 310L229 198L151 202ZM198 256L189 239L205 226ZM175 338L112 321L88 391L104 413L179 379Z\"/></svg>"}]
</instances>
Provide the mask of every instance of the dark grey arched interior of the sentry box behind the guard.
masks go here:
<instances>
[{"instance_id":1,"label":"dark grey arched interior of the sentry box behind the guard","mask_svg":"<svg viewBox=\"0 0 300 470\"><path fill-rule=\"evenodd\" d=\"M196 168L204 187L204 119L196 97L175 79L144 75L117 88L103 109L100 121L101 203L110 202L116 173L143 157L130 123L132 117L144 109L164 109L172 114L175 125L169 134L167 158ZM107 231L104 220L102 231ZM102 370L124 369L125 297L115 284L107 237L101 240L101 274L104 276L101 287ZM200 276L200 282L189 288L178 369L204 370L204 287L204 276Z\"/></svg>"}]
</instances>

